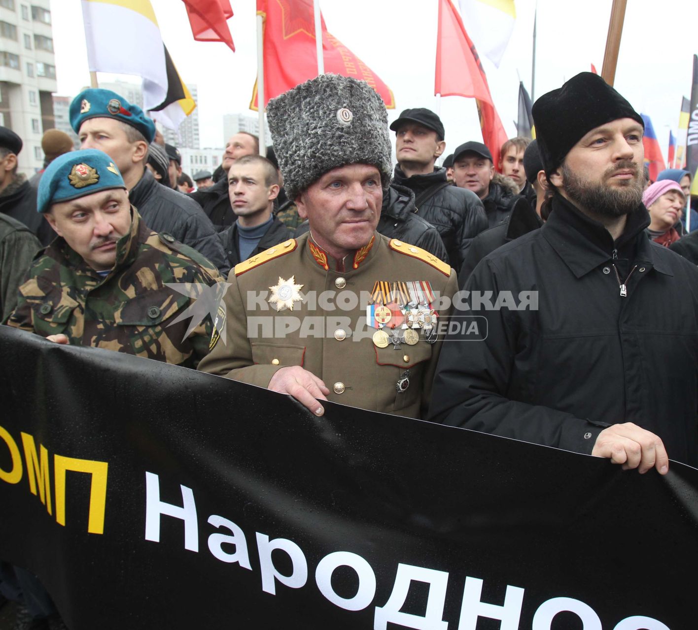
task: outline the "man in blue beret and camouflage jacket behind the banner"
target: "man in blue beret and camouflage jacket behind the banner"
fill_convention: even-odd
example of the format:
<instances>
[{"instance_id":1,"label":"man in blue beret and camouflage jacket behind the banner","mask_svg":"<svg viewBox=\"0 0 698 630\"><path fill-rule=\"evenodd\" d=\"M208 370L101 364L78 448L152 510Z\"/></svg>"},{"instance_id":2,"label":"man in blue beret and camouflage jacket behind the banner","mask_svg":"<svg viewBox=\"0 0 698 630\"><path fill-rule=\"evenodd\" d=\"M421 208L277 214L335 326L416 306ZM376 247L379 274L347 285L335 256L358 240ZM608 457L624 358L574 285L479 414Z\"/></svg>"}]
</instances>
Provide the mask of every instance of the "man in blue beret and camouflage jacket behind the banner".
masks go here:
<instances>
[{"instance_id":1,"label":"man in blue beret and camouflage jacket behind the banner","mask_svg":"<svg viewBox=\"0 0 698 630\"><path fill-rule=\"evenodd\" d=\"M192 300L168 283L221 277L195 249L144 224L111 157L85 149L54 160L38 212L59 238L29 268L8 325L187 367L207 354L210 318L177 322Z\"/></svg>"}]
</instances>

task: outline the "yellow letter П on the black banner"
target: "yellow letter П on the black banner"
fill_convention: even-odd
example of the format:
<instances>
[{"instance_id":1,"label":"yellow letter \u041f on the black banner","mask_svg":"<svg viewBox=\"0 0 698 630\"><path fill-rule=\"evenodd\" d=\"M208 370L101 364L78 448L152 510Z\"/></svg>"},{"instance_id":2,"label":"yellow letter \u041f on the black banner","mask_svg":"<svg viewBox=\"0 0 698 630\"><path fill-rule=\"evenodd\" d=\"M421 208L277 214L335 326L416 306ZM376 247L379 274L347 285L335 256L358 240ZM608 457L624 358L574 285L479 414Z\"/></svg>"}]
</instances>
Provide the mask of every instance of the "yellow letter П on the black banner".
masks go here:
<instances>
[{"instance_id":1,"label":"yellow letter \u041f on the black banner","mask_svg":"<svg viewBox=\"0 0 698 630\"><path fill-rule=\"evenodd\" d=\"M53 466L56 478L56 522L59 525L66 524L66 471L87 472L92 475L87 531L90 534L103 534L107 502L107 462L54 455Z\"/></svg>"}]
</instances>

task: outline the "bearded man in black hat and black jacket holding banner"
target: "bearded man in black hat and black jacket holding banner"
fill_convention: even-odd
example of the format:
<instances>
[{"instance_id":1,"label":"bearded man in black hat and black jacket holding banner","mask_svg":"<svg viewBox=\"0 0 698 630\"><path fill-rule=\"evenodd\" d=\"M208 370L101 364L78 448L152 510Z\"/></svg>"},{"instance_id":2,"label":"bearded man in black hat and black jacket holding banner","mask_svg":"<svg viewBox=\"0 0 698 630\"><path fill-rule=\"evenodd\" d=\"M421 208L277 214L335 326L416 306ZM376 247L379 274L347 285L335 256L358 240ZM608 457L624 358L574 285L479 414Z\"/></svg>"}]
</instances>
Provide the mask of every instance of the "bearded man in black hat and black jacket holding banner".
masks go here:
<instances>
[{"instance_id":1,"label":"bearded man in black hat and black jacket holding banner","mask_svg":"<svg viewBox=\"0 0 698 630\"><path fill-rule=\"evenodd\" d=\"M589 72L533 118L550 216L470 276L487 339L445 344L429 418L639 472L665 474L667 453L696 466L698 270L644 233L642 118Z\"/></svg>"}]
</instances>

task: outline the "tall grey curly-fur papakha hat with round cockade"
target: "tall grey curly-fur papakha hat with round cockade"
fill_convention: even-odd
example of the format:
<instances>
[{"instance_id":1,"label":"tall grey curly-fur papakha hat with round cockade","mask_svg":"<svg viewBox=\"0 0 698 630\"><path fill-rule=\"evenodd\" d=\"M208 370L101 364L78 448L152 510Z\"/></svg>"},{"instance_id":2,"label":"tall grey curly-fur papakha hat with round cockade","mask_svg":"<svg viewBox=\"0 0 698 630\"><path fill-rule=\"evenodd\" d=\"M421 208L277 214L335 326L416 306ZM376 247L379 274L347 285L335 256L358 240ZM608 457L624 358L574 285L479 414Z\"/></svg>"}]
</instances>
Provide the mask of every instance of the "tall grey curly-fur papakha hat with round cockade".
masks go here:
<instances>
[{"instance_id":1,"label":"tall grey curly-fur papakha hat with round cockade","mask_svg":"<svg viewBox=\"0 0 698 630\"><path fill-rule=\"evenodd\" d=\"M365 81L320 75L270 100L267 120L289 199L347 164L375 165L387 190L392 175L387 112Z\"/></svg>"}]
</instances>

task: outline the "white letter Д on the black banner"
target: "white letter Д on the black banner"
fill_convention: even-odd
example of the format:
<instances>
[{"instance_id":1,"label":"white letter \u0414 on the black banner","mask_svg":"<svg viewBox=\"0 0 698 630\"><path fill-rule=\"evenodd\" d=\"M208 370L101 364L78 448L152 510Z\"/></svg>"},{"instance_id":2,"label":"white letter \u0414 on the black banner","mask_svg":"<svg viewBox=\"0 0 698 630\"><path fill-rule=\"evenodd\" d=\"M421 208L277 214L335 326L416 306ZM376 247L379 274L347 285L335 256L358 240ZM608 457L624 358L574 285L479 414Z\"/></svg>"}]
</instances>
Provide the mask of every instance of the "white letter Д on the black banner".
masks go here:
<instances>
[{"instance_id":1,"label":"white letter \u0414 on the black banner","mask_svg":"<svg viewBox=\"0 0 698 630\"><path fill-rule=\"evenodd\" d=\"M400 612L413 581L429 584L424 617ZM417 630L447 630L448 622L443 621L447 583L448 574L445 571L414 567L412 564L398 564L395 583L388 601L385 606L376 606L373 630L387 630L388 622Z\"/></svg>"}]
</instances>

